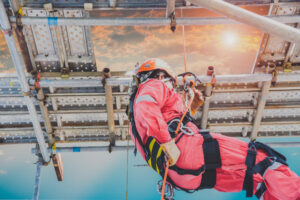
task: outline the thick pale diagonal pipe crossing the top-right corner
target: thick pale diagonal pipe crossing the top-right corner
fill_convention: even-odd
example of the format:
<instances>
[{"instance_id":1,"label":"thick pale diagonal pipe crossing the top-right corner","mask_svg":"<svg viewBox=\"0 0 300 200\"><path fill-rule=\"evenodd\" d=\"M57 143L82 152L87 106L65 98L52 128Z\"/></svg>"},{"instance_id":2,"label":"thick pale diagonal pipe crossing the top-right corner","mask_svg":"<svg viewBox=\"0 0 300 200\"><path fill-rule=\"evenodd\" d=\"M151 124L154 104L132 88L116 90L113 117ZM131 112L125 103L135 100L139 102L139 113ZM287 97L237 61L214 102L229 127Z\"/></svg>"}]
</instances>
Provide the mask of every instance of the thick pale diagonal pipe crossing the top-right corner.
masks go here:
<instances>
[{"instance_id":1,"label":"thick pale diagonal pipe crossing the top-right corner","mask_svg":"<svg viewBox=\"0 0 300 200\"><path fill-rule=\"evenodd\" d=\"M300 44L300 30L291 26L278 23L275 20L239 8L238 6L222 0L190 0L190 2L221 13L231 19L256 27L266 33L279 36L286 41Z\"/></svg>"}]
</instances>

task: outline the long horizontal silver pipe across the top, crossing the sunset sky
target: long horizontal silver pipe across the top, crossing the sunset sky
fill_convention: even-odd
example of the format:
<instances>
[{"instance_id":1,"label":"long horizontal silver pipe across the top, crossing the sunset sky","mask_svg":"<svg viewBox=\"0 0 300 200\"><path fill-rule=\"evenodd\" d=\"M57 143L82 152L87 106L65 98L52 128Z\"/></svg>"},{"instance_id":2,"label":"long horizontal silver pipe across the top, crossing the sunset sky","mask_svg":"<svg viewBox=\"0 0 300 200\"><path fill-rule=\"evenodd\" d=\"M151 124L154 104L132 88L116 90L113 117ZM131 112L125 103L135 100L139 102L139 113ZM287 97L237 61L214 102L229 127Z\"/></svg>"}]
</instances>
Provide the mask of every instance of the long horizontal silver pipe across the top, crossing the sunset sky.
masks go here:
<instances>
[{"instance_id":1,"label":"long horizontal silver pipe across the top, crossing the sunset sky","mask_svg":"<svg viewBox=\"0 0 300 200\"><path fill-rule=\"evenodd\" d=\"M297 23L300 21L299 15L293 16L265 16L280 23ZM11 16L10 21L16 23L16 17ZM24 25L45 24L48 25L47 17L22 17L21 22ZM169 26L168 18L79 18L79 17L59 17L54 22L58 26ZM216 18L176 18L177 25L218 25L218 24L241 24L238 21L226 17Z\"/></svg>"}]
</instances>

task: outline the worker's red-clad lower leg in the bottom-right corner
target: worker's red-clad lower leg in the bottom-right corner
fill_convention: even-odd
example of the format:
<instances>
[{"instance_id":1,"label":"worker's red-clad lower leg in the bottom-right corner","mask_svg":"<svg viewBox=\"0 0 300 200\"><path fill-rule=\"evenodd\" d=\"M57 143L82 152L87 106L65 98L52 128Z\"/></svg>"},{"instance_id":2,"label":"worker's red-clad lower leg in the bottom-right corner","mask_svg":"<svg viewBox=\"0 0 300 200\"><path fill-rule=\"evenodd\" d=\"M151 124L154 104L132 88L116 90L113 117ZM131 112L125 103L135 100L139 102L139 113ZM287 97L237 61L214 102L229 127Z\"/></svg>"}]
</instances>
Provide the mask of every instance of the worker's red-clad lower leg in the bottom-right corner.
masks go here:
<instances>
[{"instance_id":1,"label":"worker's red-clad lower leg in the bottom-right corner","mask_svg":"<svg viewBox=\"0 0 300 200\"><path fill-rule=\"evenodd\" d=\"M288 166L275 162L263 176L266 191L260 199L300 200L300 177Z\"/></svg>"}]
</instances>

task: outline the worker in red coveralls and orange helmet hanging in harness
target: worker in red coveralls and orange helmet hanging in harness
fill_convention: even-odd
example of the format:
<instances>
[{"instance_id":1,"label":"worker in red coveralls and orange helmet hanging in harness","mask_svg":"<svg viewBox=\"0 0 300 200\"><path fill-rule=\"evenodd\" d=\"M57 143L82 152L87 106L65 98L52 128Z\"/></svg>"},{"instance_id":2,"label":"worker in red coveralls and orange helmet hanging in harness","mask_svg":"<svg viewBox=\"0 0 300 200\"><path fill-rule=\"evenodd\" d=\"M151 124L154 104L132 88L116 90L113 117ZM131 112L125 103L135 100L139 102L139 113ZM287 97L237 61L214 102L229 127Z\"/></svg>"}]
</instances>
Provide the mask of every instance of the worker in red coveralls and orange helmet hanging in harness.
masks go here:
<instances>
[{"instance_id":1,"label":"worker in red coveralls and orange helmet hanging in harness","mask_svg":"<svg viewBox=\"0 0 300 200\"><path fill-rule=\"evenodd\" d=\"M166 62L149 59L136 69L136 76L139 85L129 108L131 136L161 176L168 159L168 183L184 191L246 190L247 197L300 200L300 178L285 157L269 146L203 131L189 116L174 135L185 106L174 90L176 79Z\"/></svg>"}]
</instances>

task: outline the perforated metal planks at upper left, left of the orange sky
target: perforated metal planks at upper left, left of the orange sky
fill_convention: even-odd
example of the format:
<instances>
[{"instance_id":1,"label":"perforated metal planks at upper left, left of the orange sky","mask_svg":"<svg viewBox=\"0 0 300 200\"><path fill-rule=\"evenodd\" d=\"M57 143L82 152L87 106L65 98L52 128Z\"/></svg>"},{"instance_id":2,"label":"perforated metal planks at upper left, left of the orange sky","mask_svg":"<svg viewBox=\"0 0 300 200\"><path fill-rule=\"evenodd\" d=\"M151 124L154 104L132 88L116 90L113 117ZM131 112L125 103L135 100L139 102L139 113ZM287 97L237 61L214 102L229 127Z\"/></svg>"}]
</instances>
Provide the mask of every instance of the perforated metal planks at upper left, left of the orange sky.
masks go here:
<instances>
[{"instance_id":1,"label":"perforated metal planks at upper left, left of the orange sky","mask_svg":"<svg viewBox=\"0 0 300 200\"><path fill-rule=\"evenodd\" d=\"M82 9L44 9L23 8L24 16L39 17L84 17ZM39 72L96 71L90 28L84 26L25 26L24 35L32 62Z\"/></svg>"}]
</instances>

